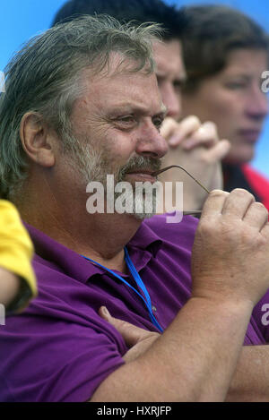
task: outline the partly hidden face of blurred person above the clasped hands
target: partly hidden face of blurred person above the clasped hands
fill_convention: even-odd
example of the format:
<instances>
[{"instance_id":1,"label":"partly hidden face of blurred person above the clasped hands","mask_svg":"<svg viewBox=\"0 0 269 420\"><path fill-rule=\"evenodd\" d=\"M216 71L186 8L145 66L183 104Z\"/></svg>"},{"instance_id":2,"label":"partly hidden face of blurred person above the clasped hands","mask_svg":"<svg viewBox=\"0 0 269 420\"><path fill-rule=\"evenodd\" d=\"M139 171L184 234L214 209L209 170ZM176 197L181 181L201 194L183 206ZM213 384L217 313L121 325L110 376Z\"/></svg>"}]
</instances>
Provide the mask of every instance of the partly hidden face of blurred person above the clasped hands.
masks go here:
<instances>
[{"instance_id":1,"label":"partly hidden face of blurred person above the clasped hands","mask_svg":"<svg viewBox=\"0 0 269 420\"><path fill-rule=\"evenodd\" d=\"M155 42L153 54L162 101L168 109L168 116L178 119L181 115L180 88L186 78L180 42L178 39Z\"/></svg>"}]
</instances>

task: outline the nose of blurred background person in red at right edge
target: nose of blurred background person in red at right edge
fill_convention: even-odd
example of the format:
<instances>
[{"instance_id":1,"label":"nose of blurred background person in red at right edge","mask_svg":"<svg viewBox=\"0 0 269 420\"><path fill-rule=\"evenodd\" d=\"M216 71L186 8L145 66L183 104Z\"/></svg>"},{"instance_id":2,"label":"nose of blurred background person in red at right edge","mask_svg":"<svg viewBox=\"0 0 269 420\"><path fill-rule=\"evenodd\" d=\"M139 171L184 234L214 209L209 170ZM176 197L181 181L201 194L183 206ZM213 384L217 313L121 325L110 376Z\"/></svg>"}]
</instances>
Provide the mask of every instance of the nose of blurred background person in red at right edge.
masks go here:
<instances>
[{"instance_id":1,"label":"nose of blurred background person in red at right edge","mask_svg":"<svg viewBox=\"0 0 269 420\"><path fill-rule=\"evenodd\" d=\"M260 86L256 86L251 91L251 95L248 97L247 116L250 116L257 120L263 120L268 114L268 98L266 94L261 90Z\"/></svg>"}]
</instances>

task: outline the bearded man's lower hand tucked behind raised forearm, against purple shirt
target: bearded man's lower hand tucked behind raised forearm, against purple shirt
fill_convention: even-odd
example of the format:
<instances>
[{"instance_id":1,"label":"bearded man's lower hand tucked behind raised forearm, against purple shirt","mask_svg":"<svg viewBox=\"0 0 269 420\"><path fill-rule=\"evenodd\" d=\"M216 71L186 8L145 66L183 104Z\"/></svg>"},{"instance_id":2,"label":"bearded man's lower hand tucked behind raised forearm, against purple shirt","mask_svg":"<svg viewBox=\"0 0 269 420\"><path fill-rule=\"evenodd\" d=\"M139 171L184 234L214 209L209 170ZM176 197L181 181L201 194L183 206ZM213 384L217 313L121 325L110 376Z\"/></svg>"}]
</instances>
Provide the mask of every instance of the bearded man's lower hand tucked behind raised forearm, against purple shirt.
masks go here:
<instances>
[{"instance_id":1,"label":"bearded man's lower hand tucked behind raised forearm, against purple shirt","mask_svg":"<svg viewBox=\"0 0 269 420\"><path fill-rule=\"evenodd\" d=\"M100 307L99 314L116 328L125 340L126 346L130 347L130 350L123 357L126 363L132 362L136 357L141 356L160 337L158 332L143 330L129 322L117 320L117 318L110 315L105 306Z\"/></svg>"}]
</instances>

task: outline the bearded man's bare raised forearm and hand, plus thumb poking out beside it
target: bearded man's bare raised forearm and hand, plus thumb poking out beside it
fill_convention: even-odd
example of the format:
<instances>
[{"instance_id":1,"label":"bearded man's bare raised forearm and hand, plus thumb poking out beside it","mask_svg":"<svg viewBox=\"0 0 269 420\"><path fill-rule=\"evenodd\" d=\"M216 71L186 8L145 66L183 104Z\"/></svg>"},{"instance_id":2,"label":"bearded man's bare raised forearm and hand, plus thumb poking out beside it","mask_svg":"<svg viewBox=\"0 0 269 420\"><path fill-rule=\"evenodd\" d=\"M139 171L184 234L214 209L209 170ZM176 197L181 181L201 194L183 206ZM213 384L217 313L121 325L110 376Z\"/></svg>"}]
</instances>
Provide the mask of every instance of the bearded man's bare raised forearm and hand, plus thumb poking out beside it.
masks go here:
<instances>
[{"instance_id":1,"label":"bearded man's bare raised forearm and hand, plus thumb poking out beside it","mask_svg":"<svg viewBox=\"0 0 269 420\"><path fill-rule=\"evenodd\" d=\"M91 401L226 398L253 306L269 287L267 219L244 190L210 193L195 235L192 296L158 337L121 324L137 354L101 382Z\"/></svg>"}]
</instances>

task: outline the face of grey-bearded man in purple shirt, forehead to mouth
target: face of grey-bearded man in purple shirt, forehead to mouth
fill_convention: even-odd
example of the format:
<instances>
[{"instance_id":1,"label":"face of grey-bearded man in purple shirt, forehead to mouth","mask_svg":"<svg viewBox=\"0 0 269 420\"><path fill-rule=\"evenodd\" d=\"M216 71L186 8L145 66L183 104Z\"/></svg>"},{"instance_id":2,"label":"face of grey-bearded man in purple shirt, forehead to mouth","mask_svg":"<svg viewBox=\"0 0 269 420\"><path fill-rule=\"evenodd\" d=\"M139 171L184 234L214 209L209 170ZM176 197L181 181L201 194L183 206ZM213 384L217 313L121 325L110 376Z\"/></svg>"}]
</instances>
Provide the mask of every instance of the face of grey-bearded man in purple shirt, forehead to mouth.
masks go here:
<instances>
[{"instance_id":1,"label":"face of grey-bearded man in purple shirt, forehead to mouth","mask_svg":"<svg viewBox=\"0 0 269 420\"><path fill-rule=\"evenodd\" d=\"M113 58L113 57L112 57ZM154 73L117 70L118 57L110 60L108 74L84 75L85 94L74 103L73 135L79 141L77 171L82 184L154 182L151 172L161 167L167 152L159 129L165 116Z\"/></svg>"}]
</instances>

